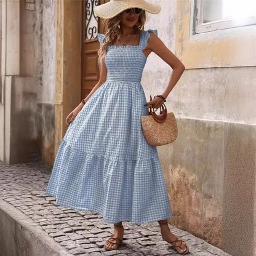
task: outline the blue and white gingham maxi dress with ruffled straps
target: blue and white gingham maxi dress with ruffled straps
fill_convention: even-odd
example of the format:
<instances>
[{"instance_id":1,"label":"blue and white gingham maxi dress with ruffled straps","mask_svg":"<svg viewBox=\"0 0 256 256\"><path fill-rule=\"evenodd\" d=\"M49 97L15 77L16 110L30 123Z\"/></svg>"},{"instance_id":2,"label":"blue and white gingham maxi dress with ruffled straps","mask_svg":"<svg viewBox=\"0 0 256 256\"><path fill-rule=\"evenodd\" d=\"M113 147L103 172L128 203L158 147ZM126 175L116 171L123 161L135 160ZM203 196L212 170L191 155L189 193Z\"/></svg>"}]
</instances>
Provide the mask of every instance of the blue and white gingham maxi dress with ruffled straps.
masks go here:
<instances>
[{"instance_id":1,"label":"blue and white gingham maxi dress with ruffled straps","mask_svg":"<svg viewBox=\"0 0 256 256\"><path fill-rule=\"evenodd\" d=\"M172 217L156 146L142 132L147 115L142 71L150 33L138 46L108 46L106 81L87 100L58 148L46 193L56 204L102 215L108 223ZM102 45L104 34L98 34Z\"/></svg>"}]
</instances>

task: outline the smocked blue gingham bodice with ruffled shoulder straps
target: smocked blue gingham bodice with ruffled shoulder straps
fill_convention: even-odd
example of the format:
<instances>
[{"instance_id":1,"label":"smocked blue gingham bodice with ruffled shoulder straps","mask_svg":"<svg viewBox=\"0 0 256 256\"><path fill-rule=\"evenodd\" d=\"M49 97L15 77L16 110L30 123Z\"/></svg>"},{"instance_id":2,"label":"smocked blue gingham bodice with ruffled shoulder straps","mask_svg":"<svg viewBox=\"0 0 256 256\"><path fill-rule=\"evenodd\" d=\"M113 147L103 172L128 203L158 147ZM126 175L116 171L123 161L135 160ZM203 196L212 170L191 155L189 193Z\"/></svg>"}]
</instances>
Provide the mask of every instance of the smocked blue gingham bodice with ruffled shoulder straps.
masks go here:
<instances>
[{"instance_id":1,"label":"smocked blue gingham bodice with ruffled shoulder straps","mask_svg":"<svg viewBox=\"0 0 256 256\"><path fill-rule=\"evenodd\" d=\"M138 46L108 46L105 55L105 64L107 68L106 79L110 81L140 82L142 72L146 64L147 57L143 54L143 49L148 44L148 38L153 31L158 35L157 30L146 30L140 34L140 43ZM103 44L104 34L98 34L98 41ZM108 38L106 38L108 41Z\"/></svg>"}]
</instances>

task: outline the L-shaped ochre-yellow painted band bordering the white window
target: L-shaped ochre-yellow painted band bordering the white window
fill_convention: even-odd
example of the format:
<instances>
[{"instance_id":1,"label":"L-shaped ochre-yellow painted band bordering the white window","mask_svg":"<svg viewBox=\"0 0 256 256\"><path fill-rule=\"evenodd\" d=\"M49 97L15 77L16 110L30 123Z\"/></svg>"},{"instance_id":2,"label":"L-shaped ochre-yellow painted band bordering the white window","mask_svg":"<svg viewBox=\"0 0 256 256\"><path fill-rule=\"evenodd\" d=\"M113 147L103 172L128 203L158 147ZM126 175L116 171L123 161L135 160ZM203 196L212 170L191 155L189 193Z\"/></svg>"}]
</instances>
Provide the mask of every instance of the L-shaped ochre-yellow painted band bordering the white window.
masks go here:
<instances>
[{"instance_id":1,"label":"L-shaped ochre-yellow painted band bordering the white window","mask_svg":"<svg viewBox=\"0 0 256 256\"><path fill-rule=\"evenodd\" d=\"M194 2L177 0L175 55L186 70L256 65L256 25L193 34Z\"/></svg>"}]
</instances>

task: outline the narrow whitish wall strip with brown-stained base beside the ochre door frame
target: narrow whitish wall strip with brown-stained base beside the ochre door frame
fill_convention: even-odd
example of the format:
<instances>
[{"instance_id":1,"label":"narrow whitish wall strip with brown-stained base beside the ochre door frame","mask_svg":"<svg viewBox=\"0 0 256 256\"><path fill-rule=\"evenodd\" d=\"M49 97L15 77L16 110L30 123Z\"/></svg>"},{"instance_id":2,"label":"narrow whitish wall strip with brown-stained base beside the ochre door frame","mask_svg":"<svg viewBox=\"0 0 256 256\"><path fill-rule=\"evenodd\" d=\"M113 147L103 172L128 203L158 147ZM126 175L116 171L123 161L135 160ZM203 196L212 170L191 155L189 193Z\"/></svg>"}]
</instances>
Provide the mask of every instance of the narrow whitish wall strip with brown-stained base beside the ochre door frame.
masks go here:
<instances>
[{"instance_id":1,"label":"narrow whitish wall strip with brown-stained base beside the ochre door frame","mask_svg":"<svg viewBox=\"0 0 256 256\"><path fill-rule=\"evenodd\" d=\"M38 103L42 117L42 159L54 162L55 139L55 0L42 1L42 86Z\"/></svg>"}]
</instances>

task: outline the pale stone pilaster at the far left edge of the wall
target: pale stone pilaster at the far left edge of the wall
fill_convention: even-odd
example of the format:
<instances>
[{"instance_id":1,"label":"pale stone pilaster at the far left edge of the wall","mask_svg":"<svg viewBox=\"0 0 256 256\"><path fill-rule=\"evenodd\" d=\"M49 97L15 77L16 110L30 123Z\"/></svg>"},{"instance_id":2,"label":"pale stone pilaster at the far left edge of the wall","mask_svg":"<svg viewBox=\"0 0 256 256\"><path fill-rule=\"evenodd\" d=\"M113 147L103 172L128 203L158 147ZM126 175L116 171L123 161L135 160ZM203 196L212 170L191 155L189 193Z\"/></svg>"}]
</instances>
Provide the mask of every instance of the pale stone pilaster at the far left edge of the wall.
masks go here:
<instances>
[{"instance_id":1,"label":"pale stone pilaster at the far left edge of the wall","mask_svg":"<svg viewBox=\"0 0 256 256\"><path fill-rule=\"evenodd\" d=\"M11 15L12 14L12 15ZM10 147L12 77L20 74L20 2L1 1L0 159L15 162Z\"/></svg>"}]
</instances>

